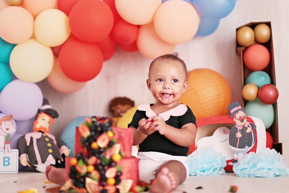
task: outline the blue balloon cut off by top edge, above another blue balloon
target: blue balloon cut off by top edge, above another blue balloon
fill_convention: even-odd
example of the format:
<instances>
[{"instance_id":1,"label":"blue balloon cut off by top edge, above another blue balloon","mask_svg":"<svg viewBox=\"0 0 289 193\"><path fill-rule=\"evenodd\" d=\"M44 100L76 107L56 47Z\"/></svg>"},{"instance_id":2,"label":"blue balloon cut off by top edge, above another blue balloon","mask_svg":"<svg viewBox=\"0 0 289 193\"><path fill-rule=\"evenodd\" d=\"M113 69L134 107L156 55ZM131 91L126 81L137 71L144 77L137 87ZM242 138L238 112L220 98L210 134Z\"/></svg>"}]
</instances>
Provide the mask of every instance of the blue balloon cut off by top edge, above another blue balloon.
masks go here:
<instances>
[{"instance_id":1,"label":"blue balloon cut off by top edge, above another blue balloon","mask_svg":"<svg viewBox=\"0 0 289 193\"><path fill-rule=\"evenodd\" d=\"M193 3L201 16L222 19L232 12L236 0L193 0Z\"/></svg>"}]
</instances>

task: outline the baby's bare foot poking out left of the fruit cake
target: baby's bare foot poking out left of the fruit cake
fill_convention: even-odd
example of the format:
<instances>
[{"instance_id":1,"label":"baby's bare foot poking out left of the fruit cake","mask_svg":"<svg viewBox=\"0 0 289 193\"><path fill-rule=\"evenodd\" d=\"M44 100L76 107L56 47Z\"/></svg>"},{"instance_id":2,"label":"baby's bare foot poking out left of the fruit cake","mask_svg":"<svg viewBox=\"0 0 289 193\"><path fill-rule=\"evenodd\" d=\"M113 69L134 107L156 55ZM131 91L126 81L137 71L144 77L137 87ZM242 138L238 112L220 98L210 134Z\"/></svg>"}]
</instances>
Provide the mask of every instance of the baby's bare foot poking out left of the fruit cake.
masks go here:
<instances>
[{"instance_id":1,"label":"baby's bare foot poking out left of the fruit cake","mask_svg":"<svg viewBox=\"0 0 289 193\"><path fill-rule=\"evenodd\" d=\"M51 181L58 185L65 184L65 169L55 168L54 166L46 166L45 176L48 181Z\"/></svg>"}]
</instances>

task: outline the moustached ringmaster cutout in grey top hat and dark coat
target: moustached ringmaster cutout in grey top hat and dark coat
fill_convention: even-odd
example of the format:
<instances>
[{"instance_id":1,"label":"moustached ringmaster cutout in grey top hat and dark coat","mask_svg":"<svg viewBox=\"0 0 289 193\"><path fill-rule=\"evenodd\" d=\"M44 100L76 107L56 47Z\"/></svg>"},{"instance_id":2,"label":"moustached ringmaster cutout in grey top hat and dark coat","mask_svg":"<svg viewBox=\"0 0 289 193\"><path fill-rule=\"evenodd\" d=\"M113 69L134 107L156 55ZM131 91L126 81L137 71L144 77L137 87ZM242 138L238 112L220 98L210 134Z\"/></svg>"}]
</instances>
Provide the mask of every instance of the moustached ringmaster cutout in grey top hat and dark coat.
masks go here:
<instances>
[{"instance_id":1,"label":"moustached ringmaster cutout in grey top hat and dark coat","mask_svg":"<svg viewBox=\"0 0 289 193\"><path fill-rule=\"evenodd\" d=\"M229 133L229 144L234 151L234 158L228 164L234 165L238 162L238 159L242 159L244 154L253 148L256 142L254 132L256 125L247 122L246 109L242 108L238 102L231 103L228 109L231 112L230 117L236 123L232 126Z\"/></svg>"}]
</instances>

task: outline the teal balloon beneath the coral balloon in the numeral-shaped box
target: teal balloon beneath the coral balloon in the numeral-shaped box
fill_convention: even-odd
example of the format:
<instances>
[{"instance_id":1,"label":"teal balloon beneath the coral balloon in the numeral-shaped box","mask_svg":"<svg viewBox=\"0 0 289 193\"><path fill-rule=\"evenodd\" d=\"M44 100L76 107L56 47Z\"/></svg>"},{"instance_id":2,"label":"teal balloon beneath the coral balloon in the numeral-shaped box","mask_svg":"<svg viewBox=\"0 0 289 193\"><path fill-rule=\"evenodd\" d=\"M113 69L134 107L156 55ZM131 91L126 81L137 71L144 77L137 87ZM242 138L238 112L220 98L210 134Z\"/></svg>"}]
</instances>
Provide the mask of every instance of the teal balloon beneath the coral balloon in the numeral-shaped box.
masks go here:
<instances>
[{"instance_id":1,"label":"teal balloon beneath the coral balloon in the numeral-shaped box","mask_svg":"<svg viewBox=\"0 0 289 193\"><path fill-rule=\"evenodd\" d=\"M264 71L254 71L246 79L245 84L255 84L258 88L261 88L265 84L271 84L270 76Z\"/></svg>"}]
</instances>

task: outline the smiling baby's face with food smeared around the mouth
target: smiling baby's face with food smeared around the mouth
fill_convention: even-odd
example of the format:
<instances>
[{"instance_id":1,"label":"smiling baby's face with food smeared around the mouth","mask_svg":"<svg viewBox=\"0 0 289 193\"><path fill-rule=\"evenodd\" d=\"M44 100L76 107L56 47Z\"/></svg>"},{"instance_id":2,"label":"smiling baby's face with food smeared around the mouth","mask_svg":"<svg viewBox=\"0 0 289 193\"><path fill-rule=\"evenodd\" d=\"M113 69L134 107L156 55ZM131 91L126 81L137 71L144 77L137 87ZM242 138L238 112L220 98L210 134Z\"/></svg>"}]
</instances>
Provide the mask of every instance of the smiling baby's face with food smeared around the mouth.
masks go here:
<instances>
[{"instance_id":1,"label":"smiling baby's face with food smeared around the mouth","mask_svg":"<svg viewBox=\"0 0 289 193\"><path fill-rule=\"evenodd\" d=\"M155 61L149 72L147 86L161 104L175 104L186 90L186 73L177 61Z\"/></svg>"}]
</instances>

